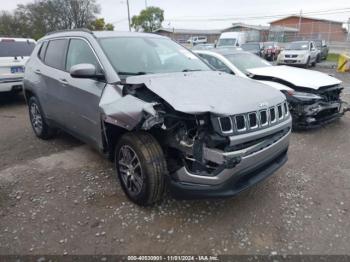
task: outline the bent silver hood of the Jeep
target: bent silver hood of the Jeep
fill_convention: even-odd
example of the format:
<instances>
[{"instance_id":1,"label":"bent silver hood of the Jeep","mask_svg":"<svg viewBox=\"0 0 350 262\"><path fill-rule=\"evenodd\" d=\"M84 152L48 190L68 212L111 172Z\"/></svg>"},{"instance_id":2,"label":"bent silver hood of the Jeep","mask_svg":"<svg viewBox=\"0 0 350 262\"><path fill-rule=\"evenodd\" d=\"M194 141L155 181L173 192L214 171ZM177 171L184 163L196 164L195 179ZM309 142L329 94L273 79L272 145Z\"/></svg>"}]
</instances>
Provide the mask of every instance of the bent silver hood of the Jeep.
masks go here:
<instances>
[{"instance_id":1,"label":"bent silver hood of the Jeep","mask_svg":"<svg viewBox=\"0 0 350 262\"><path fill-rule=\"evenodd\" d=\"M281 92L267 85L216 71L133 76L126 82L143 83L175 110L189 114L240 114L285 100Z\"/></svg>"}]
</instances>

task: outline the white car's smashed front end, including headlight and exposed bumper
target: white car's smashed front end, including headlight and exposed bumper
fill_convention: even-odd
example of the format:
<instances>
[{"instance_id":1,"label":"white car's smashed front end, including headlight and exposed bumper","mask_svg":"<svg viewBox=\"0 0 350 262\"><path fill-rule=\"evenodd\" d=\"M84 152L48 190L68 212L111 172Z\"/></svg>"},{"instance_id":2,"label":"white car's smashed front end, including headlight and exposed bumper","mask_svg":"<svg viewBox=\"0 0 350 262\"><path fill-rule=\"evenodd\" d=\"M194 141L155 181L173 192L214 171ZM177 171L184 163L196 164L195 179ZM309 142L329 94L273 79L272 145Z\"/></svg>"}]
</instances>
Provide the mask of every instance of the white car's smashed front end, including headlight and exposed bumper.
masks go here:
<instances>
[{"instance_id":1,"label":"white car's smashed front end, including headlight and exposed bumper","mask_svg":"<svg viewBox=\"0 0 350 262\"><path fill-rule=\"evenodd\" d=\"M340 97L342 89L340 85L312 91L294 87L295 92L286 92L293 116L293 128L316 128L342 117L349 111L348 104Z\"/></svg>"}]
</instances>

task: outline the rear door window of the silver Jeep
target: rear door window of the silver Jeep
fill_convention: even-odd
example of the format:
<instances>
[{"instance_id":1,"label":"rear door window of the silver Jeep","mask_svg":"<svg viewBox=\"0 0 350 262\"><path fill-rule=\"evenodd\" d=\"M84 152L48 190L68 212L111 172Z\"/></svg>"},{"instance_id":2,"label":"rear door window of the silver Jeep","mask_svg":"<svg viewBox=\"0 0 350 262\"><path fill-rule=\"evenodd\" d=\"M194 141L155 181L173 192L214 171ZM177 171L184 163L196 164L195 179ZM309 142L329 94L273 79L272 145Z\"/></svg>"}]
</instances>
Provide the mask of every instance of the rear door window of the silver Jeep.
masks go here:
<instances>
[{"instance_id":1,"label":"rear door window of the silver Jeep","mask_svg":"<svg viewBox=\"0 0 350 262\"><path fill-rule=\"evenodd\" d=\"M66 47L66 39L51 40L46 50L45 64L60 70L64 70Z\"/></svg>"}]
</instances>

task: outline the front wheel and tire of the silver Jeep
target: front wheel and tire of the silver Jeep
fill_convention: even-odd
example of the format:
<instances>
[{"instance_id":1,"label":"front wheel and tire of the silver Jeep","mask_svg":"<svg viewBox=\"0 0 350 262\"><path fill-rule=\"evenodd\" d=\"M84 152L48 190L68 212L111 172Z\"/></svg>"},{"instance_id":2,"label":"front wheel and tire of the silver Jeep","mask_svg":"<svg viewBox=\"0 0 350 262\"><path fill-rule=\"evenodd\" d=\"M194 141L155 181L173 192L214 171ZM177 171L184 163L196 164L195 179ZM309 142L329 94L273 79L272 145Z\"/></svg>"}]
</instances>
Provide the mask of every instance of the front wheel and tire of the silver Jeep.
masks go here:
<instances>
[{"instance_id":1,"label":"front wheel and tire of the silver Jeep","mask_svg":"<svg viewBox=\"0 0 350 262\"><path fill-rule=\"evenodd\" d=\"M149 206L162 200L168 171L163 150L152 135L124 134L116 145L115 167L123 191L131 201Z\"/></svg>"}]
</instances>

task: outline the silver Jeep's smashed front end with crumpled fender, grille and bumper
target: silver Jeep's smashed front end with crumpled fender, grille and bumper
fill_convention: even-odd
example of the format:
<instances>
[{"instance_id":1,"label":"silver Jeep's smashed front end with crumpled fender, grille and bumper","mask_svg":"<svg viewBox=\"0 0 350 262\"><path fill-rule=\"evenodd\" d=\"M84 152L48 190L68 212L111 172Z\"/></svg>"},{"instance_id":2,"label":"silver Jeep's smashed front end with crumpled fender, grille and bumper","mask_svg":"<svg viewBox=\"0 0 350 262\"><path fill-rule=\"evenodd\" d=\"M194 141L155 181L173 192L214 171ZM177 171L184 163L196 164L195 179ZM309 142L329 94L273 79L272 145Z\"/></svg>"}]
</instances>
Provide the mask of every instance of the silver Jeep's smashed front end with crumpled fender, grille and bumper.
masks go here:
<instances>
[{"instance_id":1,"label":"silver Jeep's smashed front end with crumpled fender, grille and bumper","mask_svg":"<svg viewBox=\"0 0 350 262\"><path fill-rule=\"evenodd\" d=\"M106 87L100 108L104 125L144 130L157 139L175 195L232 196L287 161L291 116L282 99L238 115L208 112L207 104L197 105L195 113L186 104L190 112L183 112L147 83L129 81L121 88ZM105 137L108 144L108 134Z\"/></svg>"}]
</instances>

